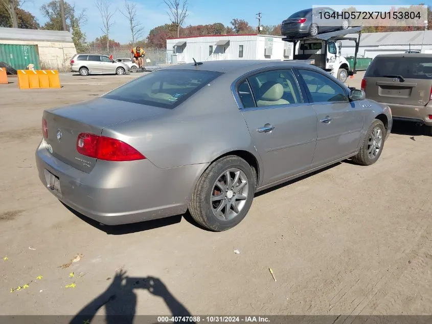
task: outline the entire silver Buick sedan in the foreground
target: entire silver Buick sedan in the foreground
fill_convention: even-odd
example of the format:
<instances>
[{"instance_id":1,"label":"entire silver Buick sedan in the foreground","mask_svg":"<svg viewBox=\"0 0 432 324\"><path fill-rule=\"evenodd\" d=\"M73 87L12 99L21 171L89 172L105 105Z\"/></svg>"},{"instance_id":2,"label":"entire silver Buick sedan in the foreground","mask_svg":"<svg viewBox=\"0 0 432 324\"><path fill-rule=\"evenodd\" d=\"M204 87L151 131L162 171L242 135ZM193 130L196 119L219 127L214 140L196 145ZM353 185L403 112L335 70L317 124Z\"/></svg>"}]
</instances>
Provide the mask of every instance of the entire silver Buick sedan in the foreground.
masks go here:
<instances>
[{"instance_id":1,"label":"entire silver Buick sedan in the foreground","mask_svg":"<svg viewBox=\"0 0 432 324\"><path fill-rule=\"evenodd\" d=\"M214 231L255 192L351 158L371 165L388 106L296 61L164 68L92 101L43 112L39 178L107 225L185 213Z\"/></svg>"}]
</instances>

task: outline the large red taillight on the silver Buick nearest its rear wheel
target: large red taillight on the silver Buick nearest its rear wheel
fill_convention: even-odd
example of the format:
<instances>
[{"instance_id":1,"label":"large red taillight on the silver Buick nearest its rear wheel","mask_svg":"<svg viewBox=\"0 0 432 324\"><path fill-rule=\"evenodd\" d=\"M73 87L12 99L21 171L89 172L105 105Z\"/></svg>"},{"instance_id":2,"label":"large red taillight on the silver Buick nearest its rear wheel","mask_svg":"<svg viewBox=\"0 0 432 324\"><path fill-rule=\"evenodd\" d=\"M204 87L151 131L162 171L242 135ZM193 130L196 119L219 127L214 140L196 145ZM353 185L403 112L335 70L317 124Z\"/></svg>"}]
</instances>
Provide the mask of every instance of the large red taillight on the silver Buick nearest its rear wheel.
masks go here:
<instances>
[{"instance_id":1,"label":"large red taillight on the silver Buick nearest its rear wheel","mask_svg":"<svg viewBox=\"0 0 432 324\"><path fill-rule=\"evenodd\" d=\"M89 133L78 135L77 151L90 158L106 161L135 161L146 158L125 142Z\"/></svg>"}]
</instances>

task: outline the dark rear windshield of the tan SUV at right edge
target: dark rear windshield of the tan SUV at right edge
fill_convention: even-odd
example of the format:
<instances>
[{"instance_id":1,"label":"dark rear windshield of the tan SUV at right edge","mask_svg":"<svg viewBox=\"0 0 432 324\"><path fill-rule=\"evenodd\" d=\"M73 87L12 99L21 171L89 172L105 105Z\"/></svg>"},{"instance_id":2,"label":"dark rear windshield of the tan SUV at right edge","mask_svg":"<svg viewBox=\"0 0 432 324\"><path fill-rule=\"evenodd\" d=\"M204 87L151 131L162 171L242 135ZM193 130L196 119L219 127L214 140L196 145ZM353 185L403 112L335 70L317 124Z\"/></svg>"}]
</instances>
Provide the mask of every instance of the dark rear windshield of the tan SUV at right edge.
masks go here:
<instances>
[{"instance_id":1,"label":"dark rear windshield of the tan SUV at right edge","mask_svg":"<svg viewBox=\"0 0 432 324\"><path fill-rule=\"evenodd\" d=\"M432 57L376 57L365 76L401 75L407 79L432 79Z\"/></svg>"}]
</instances>

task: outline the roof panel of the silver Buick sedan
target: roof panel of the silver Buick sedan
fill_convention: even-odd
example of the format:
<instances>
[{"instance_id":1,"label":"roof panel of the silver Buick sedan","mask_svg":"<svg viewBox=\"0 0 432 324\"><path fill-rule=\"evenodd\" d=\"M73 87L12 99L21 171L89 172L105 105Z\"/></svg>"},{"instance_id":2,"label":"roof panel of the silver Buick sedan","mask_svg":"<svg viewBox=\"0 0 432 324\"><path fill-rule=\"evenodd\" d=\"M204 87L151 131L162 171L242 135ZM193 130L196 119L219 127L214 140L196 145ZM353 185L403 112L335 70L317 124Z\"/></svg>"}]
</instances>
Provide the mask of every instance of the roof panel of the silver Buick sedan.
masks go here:
<instances>
[{"instance_id":1,"label":"roof panel of the silver Buick sedan","mask_svg":"<svg viewBox=\"0 0 432 324\"><path fill-rule=\"evenodd\" d=\"M200 70L221 72L226 74L246 73L261 68L270 67L310 67L316 68L311 64L299 62L296 60L280 61L280 60L222 60L222 61L205 61L199 66L194 63L177 64L172 67L162 68L160 70ZM316 68L318 69L318 68Z\"/></svg>"}]
</instances>

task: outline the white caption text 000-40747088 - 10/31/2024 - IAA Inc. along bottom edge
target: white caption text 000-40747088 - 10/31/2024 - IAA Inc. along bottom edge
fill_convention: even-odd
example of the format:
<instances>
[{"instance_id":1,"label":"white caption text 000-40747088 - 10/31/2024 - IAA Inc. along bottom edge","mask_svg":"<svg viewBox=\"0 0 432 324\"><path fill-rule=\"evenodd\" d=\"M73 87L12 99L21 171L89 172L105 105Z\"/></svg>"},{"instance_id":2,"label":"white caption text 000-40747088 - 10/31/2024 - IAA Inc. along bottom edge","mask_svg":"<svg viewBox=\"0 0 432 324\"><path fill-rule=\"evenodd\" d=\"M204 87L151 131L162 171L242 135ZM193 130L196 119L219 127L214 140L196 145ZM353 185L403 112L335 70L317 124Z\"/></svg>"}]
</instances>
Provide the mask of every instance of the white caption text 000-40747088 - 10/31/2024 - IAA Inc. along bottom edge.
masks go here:
<instances>
[{"instance_id":1,"label":"white caption text 000-40747088 - 10/31/2024 - IAA Inc. along bottom edge","mask_svg":"<svg viewBox=\"0 0 432 324\"><path fill-rule=\"evenodd\" d=\"M176 323L176 322L190 322L190 323L227 323L227 322L270 322L268 317L265 316L158 316L157 321L160 323Z\"/></svg>"}]
</instances>

